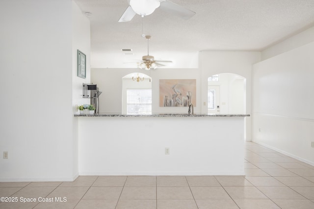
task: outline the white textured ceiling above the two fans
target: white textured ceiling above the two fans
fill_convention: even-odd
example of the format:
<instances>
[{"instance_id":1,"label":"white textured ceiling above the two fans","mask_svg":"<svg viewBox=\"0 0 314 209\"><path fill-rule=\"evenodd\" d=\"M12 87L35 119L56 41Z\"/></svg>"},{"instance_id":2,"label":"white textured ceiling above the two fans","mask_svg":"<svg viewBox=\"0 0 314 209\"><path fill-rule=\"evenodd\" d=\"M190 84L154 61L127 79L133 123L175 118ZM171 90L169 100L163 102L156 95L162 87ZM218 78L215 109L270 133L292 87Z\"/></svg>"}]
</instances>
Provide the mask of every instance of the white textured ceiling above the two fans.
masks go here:
<instances>
[{"instance_id":1,"label":"white textured ceiling above the two fans","mask_svg":"<svg viewBox=\"0 0 314 209\"><path fill-rule=\"evenodd\" d=\"M142 19L118 23L127 0L75 0L83 12L90 12L91 65L114 68L147 54L141 36ZM314 25L314 0L172 0L196 15L183 20L156 9L145 16L144 33L151 35L150 54L176 59L185 54L193 59L203 50L262 49ZM133 49L124 55L122 48ZM172 54L172 55L171 55ZM128 57L129 56L129 57ZM184 57L184 55L182 55ZM125 66L130 67L130 66Z\"/></svg>"}]
</instances>

